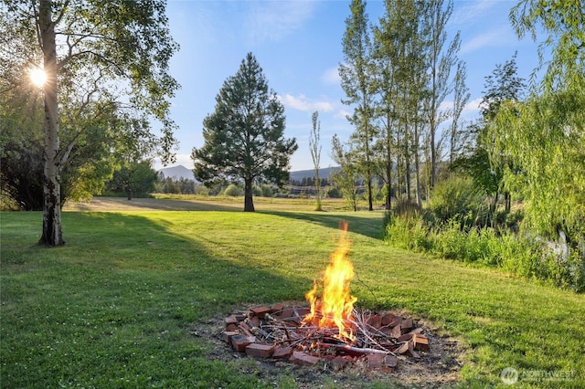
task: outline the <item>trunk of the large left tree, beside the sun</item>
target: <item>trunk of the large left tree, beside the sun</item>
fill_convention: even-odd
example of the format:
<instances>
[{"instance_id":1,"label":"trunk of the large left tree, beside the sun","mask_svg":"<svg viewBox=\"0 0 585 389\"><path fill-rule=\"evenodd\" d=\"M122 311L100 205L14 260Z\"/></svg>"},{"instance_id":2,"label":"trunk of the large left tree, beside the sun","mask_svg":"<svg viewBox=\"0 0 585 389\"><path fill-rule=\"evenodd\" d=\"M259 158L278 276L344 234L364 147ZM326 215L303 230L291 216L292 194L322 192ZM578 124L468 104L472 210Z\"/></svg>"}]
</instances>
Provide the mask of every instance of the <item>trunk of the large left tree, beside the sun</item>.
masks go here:
<instances>
[{"instance_id":1,"label":"trunk of the large left tree, beside the sun","mask_svg":"<svg viewBox=\"0 0 585 389\"><path fill-rule=\"evenodd\" d=\"M57 100L57 46L55 26L51 14L52 2L40 0L38 24L44 51L44 68L47 82L43 87L45 95L45 149L43 160L43 233L39 245L61 246L61 187L58 138Z\"/></svg>"}]
</instances>

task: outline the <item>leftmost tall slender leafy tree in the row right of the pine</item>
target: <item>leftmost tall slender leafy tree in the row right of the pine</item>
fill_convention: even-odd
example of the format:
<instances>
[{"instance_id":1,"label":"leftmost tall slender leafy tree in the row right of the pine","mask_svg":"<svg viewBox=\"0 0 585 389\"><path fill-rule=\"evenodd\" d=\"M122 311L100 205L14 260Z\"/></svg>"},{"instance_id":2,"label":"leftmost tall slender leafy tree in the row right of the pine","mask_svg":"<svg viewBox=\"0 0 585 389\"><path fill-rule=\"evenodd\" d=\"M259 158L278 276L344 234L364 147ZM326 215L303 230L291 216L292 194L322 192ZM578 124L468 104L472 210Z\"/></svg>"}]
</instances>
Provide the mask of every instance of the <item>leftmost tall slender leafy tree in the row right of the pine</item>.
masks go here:
<instances>
[{"instance_id":1,"label":"leftmost tall slender leafy tree in the row right of the pine","mask_svg":"<svg viewBox=\"0 0 585 389\"><path fill-rule=\"evenodd\" d=\"M351 142L359 155L359 172L367 185L367 203L373 207L372 180L374 177L374 148L376 137L374 120L375 84L373 82L372 44L367 22L366 1L352 0L351 15L346 18L346 32L343 37L344 63L339 66L341 86L347 100L343 102L354 108L349 121L354 124Z\"/></svg>"}]
</instances>

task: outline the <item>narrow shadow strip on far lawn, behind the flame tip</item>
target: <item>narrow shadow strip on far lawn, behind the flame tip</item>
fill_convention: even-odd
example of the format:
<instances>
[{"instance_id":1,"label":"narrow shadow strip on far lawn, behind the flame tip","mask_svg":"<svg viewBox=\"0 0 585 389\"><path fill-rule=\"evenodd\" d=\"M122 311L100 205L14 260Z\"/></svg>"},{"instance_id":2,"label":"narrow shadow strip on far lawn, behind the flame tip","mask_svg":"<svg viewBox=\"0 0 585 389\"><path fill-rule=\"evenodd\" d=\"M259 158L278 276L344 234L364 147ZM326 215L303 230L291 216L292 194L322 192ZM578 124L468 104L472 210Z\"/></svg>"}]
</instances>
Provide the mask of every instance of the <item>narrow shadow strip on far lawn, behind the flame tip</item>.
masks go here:
<instances>
[{"instance_id":1,"label":"narrow shadow strip on far lawn, behind the flame tip","mask_svg":"<svg viewBox=\"0 0 585 389\"><path fill-rule=\"evenodd\" d=\"M338 229L341 222L346 221L348 223L348 231L356 234L363 235L365 237L371 237L374 239L383 238L383 224L384 220L380 218L364 217L364 216L343 216L337 214L328 214L321 212L283 212L283 211L258 211L263 214L290 217L295 220L304 220L327 228Z\"/></svg>"}]
</instances>

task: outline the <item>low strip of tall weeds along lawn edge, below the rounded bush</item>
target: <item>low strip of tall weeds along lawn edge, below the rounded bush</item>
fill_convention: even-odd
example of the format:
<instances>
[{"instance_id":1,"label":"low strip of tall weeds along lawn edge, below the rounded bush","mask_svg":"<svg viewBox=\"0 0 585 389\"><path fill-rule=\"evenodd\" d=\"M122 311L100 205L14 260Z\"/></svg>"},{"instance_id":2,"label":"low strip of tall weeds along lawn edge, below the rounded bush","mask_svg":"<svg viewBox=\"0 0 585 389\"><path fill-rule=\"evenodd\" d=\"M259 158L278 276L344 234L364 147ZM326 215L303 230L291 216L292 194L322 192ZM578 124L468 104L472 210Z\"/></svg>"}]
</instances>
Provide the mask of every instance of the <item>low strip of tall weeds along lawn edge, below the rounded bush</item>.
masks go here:
<instances>
[{"instance_id":1,"label":"low strip of tall weeds along lawn edge, below the rounded bush","mask_svg":"<svg viewBox=\"0 0 585 389\"><path fill-rule=\"evenodd\" d=\"M386 216L388 244L441 258L478 263L515 274L523 279L540 279L553 285L585 290L585 259L575 250L563 258L555 255L542 241L509 229L463 228L457 219L430 227L413 208L400 208Z\"/></svg>"}]
</instances>

